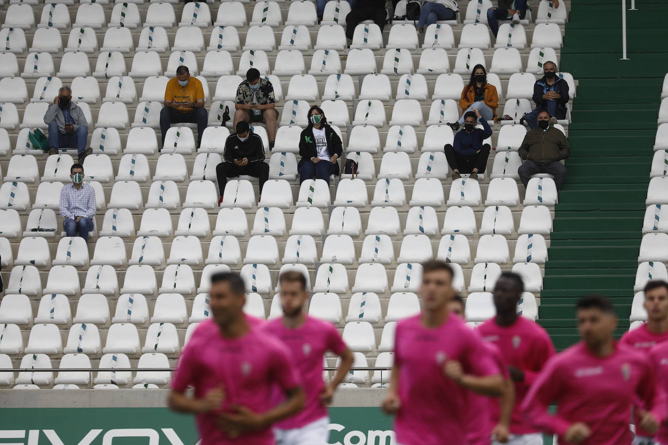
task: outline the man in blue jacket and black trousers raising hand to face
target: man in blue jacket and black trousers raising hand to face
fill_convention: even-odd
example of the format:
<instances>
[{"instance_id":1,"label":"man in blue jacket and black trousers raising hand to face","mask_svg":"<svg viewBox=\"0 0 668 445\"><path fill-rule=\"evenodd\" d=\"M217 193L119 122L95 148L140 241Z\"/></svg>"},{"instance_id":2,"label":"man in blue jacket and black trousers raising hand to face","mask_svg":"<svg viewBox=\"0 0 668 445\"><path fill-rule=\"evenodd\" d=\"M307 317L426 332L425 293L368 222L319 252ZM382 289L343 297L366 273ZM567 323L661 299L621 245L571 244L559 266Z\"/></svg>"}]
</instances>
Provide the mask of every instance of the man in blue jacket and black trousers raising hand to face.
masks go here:
<instances>
[{"instance_id":1,"label":"man in blue jacket and black trousers raising hand to face","mask_svg":"<svg viewBox=\"0 0 668 445\"><path fill-rule=\"evenodd\" d=\"M492 136L492 129L482 119L478 109L472 110L464 114L464 127L455 135L454 147L449 143L445 146L452 179L458 179L466 173L470 173L471 179L478 179L478 173L484 173L487 166L491 147L484 140ZM476 128L478 121L482 129Z\"/></svg>"}]
</instances>

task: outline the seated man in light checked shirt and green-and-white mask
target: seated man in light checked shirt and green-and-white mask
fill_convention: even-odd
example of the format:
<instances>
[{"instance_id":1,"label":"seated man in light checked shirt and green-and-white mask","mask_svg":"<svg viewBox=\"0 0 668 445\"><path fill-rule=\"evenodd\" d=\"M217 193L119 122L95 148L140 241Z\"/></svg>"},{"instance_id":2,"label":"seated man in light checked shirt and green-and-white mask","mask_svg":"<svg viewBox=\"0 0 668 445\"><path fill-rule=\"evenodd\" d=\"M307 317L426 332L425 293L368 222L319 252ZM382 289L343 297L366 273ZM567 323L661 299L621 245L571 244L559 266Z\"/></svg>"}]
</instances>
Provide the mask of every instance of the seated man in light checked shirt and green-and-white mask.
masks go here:
<instances>
[{"instance_id":1,"label":"seated man in light checked shirt and green-and-white mask","mask_svg":"<svg viewBox=\"0 0 668 445\"><path fill-rule=\"evenodd\" d=\"M83 183L83 165L69 167L72 181L60 189L60 215L65 219L63 229L67 236L80 236L88 243L88 232L93 230L96 200L95 190Z\"/></svg>"}]
</instances>

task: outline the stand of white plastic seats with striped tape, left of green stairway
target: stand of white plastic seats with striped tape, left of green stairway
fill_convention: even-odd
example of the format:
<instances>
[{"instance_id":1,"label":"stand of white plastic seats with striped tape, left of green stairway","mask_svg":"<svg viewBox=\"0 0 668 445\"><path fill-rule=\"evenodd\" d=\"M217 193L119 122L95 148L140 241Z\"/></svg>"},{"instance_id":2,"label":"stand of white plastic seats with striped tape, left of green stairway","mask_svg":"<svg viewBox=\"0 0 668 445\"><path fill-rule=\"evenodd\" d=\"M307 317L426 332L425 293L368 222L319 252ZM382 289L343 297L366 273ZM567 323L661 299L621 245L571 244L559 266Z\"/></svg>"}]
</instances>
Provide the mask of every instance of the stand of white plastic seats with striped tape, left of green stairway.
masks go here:
<instances>
[{"instance_id":1,"label":"stand of white plastic seats with striped tape, left of green stairway","mask_svg":"<svg viewBox=\"0 0 668 445\"><path fill-rule=\"evenodd\" d=\"M477 0L458 3L456 21L420 35L412 22L393 21L382 32L362 23L350 49L345 1L329 1L321 24L308 2L269 1L264 10L242 1L0 7L0 368L174 367L208 316L214 270L240 272L246 309L262 318L280 315L279 271L305 271L309 314L339 327L355 366L391 363L395 322L419 310L419 263L429 258L452 263L455 287L471 298L471 321L490 316L496 276L514 270L530 292L522 315L561 326L545 324L542 308L560 280L554 271L542 280L548 248L548 264L574 258L552 244L552 227L563 230L554 214L561 204L548 177L524 191L517 149L542 63L562 66L570 2L554 9L540 0L532 5L535 21L506 23L498 39L485 15L476 16ZM452 180L443 146L454 133L446 123L459 119L457 101L476 63L490 69L497 114L512 119L492 126L486 173ZM194 125L172 126L160 151L164 87L178 65L202 81L209 126L200 147ZM218 207L215 165L234 131L232 120L220 125L221 115L225 107L234 114L236 85L249 67L269 77L277 96L273 152L264 125L252 124L265 143L269 181L260 194L257 178L230 178ZM561 74L574 96L573 75ZM46 131L43 113L61 85L71 85L86 113L94 153L84 162L97 199L88 245L65 237L57 213L76 149L49 156L28 138L36 127ZM329 187L322 179L300 186L297 175L299 133L314 104L341 135L343 158L359 163L354 177ZM569 134L569 119L561 123ZM657 133L657 146L668 149L665 140ZM658 183L666 173L656 156ZM578 183L568 165L559 203ZM104 387L113 380L146 388L170 380L162 371L98 372L93 380L83 372L27 374L0 373L0 385ZM349 383L371 386L380 376L355 371Z\"/></svg>"}]
</instances>

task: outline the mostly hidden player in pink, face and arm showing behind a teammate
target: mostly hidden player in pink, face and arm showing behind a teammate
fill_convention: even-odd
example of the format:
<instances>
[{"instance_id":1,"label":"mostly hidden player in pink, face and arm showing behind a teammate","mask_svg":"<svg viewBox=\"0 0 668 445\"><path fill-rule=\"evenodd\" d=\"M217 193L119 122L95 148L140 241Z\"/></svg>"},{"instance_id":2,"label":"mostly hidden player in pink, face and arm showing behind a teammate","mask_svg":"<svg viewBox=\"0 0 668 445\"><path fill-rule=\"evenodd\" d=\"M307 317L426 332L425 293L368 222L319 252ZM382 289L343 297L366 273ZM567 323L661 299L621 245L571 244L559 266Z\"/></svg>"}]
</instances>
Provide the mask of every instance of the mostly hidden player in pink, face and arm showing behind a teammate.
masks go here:
<instances>
[{"instance_id":1,"label":"mostly hidden player in pink, face and arm showing behind a teammate","mask_svg":"<svg viewBox=\"0 0 668 445\"><path fill-rule=\"evenodd\" d=\"M464 320L464 300L462 297L454 296L450 302L450 310ZM505 444L508 443L508 436L510 435L510 415L512 414L514 400L514 387L499 348L490 342L485 342L485 346L499 368L499 372L504 376L504 393L499 402L501 414L495 424L490 412L490 402L492 400L489 397L470 391L468 394L468 434L466 434L468 445L490 445L492 438L496 438L498 442Z\"/></svg>"}]
</instances>

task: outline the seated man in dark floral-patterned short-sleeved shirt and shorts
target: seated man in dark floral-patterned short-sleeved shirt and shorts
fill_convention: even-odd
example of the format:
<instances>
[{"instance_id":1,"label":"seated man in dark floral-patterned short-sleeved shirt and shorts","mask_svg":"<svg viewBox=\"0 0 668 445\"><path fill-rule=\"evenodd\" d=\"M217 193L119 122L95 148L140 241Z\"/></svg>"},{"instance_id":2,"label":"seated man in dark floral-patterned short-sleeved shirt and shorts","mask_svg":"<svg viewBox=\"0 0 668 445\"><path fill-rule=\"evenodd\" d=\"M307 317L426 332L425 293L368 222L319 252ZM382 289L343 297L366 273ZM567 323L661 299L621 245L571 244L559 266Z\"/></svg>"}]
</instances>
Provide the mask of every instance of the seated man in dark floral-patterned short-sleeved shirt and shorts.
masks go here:
<instances>
[{"instance_id":1,"label":"seated man in dark floral-patterned short-sleeved shirt and shorts","mask_svg":"<svg viewBox=\"0 0 668 445\"><path fill-rule=\"evenodd\" d=\"M269 151L274 148L276 139L276 121L279 113L276 111L276 97L274 87L269 79L260 77L257 68L246 71L246 80L239 83L236 89L234 112L234 128L239 121L263 122L267 125L269 137Z\"/></svg>"}]
</instances>

